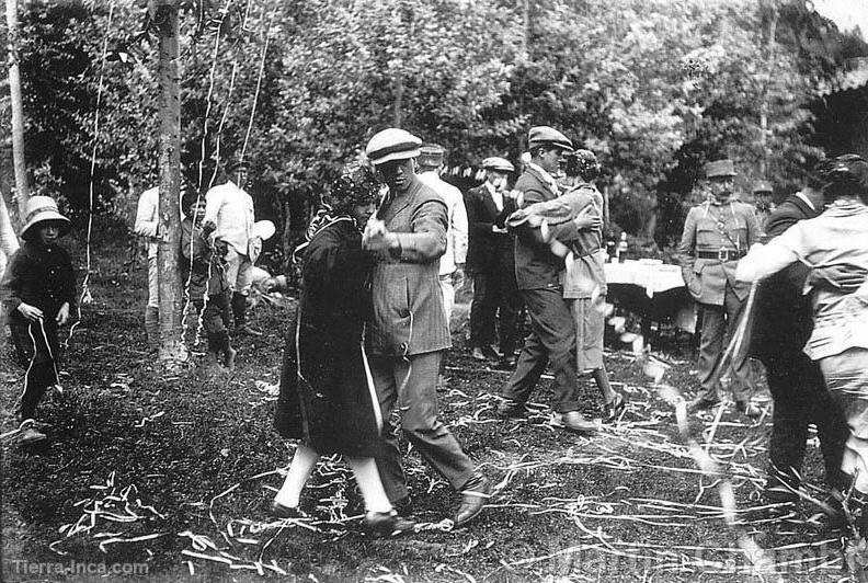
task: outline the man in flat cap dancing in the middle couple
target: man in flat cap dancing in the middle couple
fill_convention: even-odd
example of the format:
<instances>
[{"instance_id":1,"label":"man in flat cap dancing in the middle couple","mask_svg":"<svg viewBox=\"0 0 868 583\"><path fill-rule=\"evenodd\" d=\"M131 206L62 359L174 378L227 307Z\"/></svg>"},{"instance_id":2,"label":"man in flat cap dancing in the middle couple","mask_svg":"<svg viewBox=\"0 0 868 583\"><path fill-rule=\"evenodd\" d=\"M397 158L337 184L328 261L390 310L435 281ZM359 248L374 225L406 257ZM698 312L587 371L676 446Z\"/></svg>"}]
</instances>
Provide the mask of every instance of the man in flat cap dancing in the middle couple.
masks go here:
<instances>
[{"instance_id":1,"label":"man in flat cap dancing in the middle couple","mask_svg":"<svg viewBox=\"0 0 868 583\"><path fill-rule=\"evenodd\" d=\"M555 180L562 158L572 152L572 142L548 126L532 127L528 135L530 161L515 183L518 207L553 201L561 193ZM586 216L576 217L584 220ZM579 222L571 221L559 233L561 241L579 238ZM515 240L515 279L530 317L532 333L527 336L515 371L501 391L498 412L503 416L521 416L525 403L551 363L557 402L551 425L576 433L593 433L596 425L579 412L579 378L575 363L575 327L567 300L560 272L563 258L552 253L539 228L524 225Z\"/></svg>"}]
</instances>

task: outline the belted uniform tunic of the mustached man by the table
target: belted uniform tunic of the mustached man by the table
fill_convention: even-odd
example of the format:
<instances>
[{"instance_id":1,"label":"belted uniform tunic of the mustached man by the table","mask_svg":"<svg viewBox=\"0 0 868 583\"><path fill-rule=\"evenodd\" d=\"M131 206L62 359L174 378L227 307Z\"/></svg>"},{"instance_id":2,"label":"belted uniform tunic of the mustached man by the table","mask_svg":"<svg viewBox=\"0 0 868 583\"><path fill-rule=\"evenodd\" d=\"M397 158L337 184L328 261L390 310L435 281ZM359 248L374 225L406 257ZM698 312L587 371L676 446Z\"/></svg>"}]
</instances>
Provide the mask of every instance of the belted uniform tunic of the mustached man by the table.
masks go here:
<instances>
[{"instance_id":1,"label":"belted uniform tunic of the mustached man by the table","mask_svg":"<svg viewBox=\"0 0 868 583\"><path fill-rule=\"evenodd\" d=\"M687 290L699 304L723 306L727 284L740 300L750 284L735 281L738 259L700 258L700 253L744 255L761 238L760 222L751 205L730 201L721 205L705 202L687 213L678 244L678 262Z\"/></svg>"}]
</instances>

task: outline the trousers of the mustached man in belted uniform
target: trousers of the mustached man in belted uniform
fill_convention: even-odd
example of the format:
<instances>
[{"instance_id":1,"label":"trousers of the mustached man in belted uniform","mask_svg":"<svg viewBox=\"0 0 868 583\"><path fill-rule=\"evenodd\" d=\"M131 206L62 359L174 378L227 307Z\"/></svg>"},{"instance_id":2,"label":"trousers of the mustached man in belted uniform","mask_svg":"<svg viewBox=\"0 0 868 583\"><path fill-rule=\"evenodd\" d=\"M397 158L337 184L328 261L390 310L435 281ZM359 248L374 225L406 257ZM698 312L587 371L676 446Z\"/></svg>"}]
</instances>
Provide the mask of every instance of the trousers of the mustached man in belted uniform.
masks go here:
<instances>
[{"instance_id":1,"label":"trousers of the mustached man in belted uniform","mask_svg":"<svg viewBox=\"0 0 868 583\"><path fill-rule=\"evenodd\" d=\"M720 377L713 375L715 368L739 325L744 304L729 284L723 293L723 306L699 304L703 312L703 331L699 339L699 363L697 365L699 390L697 397L708 400L720 399ZM746 401L753 396L753 381L746 351L733 355L731 388L732 396L736 401Z\"/></svg>"}]
</instances>

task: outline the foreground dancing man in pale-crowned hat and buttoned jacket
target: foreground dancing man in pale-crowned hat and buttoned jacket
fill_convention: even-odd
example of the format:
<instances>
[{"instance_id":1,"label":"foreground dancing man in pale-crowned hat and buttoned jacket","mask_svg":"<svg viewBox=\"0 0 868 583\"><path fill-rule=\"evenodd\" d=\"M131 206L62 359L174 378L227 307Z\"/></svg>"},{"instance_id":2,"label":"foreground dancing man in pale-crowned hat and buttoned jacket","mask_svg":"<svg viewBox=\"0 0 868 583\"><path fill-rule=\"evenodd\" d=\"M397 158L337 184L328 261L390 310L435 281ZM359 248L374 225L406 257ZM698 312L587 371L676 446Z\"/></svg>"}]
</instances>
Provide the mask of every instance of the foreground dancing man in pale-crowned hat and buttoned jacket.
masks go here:
<instances>
[{"instance_id":1,"label":"foreground dancing man in pale-crowned hat and buttoned jacket","mask_svg":"<svg viewBox=\"0 0 868 583\"><path fill-rule=\"evenodd\" d=\"M401 454L387 421L398 405L410 443L461 492L455 525L462 526L482 512L491 485L437 411L437 371L443 352L452 345L438 276L448 216L443 199L413 170L421 144L409 132L388 128L372 137L365 148L379 180L388 186L363 237L365 248L376 254L367 348L388 446L378 467L389 500L397 508L406 508L409 495Z\"/></svg>"}]
</instances>

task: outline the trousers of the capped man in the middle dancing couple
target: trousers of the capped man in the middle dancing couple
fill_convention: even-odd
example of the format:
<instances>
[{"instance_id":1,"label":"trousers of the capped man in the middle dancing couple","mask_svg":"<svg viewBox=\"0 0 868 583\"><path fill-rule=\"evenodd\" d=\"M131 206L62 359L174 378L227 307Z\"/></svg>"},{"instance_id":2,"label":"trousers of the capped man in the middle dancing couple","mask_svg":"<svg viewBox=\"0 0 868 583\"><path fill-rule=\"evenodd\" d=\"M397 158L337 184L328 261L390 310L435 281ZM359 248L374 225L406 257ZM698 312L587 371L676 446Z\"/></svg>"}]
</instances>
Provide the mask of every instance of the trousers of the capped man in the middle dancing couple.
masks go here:
<instances>
[{"instance_id":1,"label":"trousers of the capped man in the middle dancing couple","mask_svg":"<svg viewBox=\"0 0 868 583\"><path fill-rule=\"evenodd\" d=\"M532 333L525 340L515 371L501 396L527 402L539 377L551 363L555 375L555 410L579 410L579 376L575 369L575 325L560 288L523 289Z\"/></svg>"}]
</instances>

